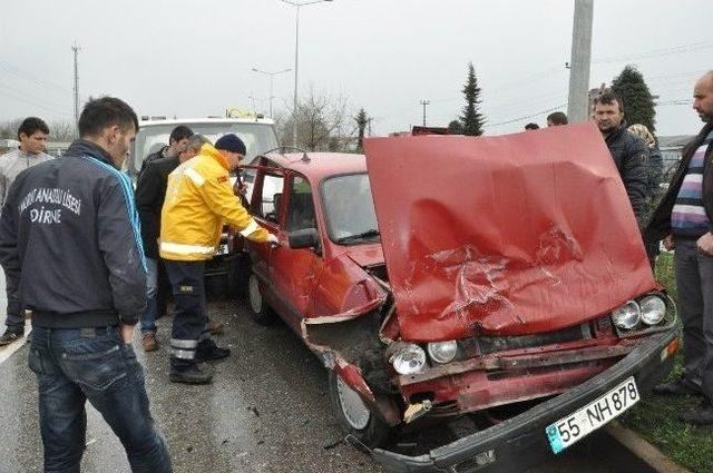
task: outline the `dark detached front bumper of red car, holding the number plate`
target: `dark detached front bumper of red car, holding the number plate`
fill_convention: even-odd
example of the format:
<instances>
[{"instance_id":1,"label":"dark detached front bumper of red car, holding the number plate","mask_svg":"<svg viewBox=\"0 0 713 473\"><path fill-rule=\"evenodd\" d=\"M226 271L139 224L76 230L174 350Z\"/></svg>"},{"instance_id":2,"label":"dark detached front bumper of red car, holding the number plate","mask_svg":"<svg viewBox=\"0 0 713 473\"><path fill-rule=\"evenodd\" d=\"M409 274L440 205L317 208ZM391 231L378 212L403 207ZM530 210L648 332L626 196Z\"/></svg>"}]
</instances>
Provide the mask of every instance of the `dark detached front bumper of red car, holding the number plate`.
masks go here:
<instances>
[{"instance_id":1,"label":"dark detached front bumper of red car, holding the number plate","mask_svg":"<svg viewBox=\"0 0 713 473\"><path fill-rule=\"evenodd\" d=\"M675 328L648 337L605 372L570 391L485 431L476 432L419 456L382 449L371 454L392 472L512 472L554 455L545 428L595 401L634 376L645 391L663 377L673 363L666 347L676 338Z\"/></svg>"}]
</instances>

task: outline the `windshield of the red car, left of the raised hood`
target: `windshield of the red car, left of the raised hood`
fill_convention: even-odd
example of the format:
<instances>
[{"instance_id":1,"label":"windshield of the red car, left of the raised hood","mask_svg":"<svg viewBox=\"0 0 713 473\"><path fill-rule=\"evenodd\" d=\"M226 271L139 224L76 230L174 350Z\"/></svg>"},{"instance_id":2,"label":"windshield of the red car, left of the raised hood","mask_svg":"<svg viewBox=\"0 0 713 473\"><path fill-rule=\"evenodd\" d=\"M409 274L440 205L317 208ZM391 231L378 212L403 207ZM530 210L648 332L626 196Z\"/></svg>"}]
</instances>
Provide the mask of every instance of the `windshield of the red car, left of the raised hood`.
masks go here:
<instances>
[{"instance_id":1,"label":"windshield of the red car, left of the raised hood","mask_svg":"<svg viewBox=\"0 0 713 473\"><path fill-rule=\"evenodd\" d=\"M332 242L358 245L381 240L365 173L326 179L322 184L322 201Z\"/></svg>"}]
</instances>

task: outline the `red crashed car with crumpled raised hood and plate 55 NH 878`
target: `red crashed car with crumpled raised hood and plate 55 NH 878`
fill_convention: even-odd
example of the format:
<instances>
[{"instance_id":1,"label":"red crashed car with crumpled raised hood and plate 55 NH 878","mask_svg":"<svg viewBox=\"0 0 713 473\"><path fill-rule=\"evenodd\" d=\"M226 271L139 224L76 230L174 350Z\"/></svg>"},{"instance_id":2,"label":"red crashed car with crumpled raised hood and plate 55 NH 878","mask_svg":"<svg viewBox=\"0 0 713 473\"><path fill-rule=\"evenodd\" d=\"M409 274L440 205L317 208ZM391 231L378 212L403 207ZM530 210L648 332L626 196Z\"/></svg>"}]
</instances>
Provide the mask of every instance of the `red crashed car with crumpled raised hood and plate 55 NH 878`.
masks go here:
<instances>
[{"instance_id":1,"label":"red crashed car with crumpled raised hood and plate 55 NH 878","mask_svg":"<svg viewBox=\"0 0 713 473\"><path fill-rule=\"evenodd\" d=\"M382 464L516 471L671 368L675 306L593 125L375 138L365 155L262 157L252 213L282 245L250 247L248 295L322 359L341 426ZM380 447L504 407L421 455Z\"/></svg>"}]
</instances>

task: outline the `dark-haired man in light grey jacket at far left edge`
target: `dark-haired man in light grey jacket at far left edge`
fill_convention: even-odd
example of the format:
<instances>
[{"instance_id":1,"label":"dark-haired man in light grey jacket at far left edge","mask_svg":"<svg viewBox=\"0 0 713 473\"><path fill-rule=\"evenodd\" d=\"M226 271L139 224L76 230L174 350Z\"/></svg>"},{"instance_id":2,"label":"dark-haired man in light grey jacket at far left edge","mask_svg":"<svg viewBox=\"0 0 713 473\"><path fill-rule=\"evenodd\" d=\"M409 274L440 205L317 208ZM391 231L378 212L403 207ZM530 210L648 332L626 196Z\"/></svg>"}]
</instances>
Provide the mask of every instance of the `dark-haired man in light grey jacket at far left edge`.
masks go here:
<instances>
[{"instance_id":1,"label":"dark-haired man in light grey jacket at far left edge","mask_svg":"<svg viewBox=\"0 0 713 473\"><path fill-rule=\"evenodd\" d=\"M10 186L20 173L35 165L53 159L45 152L49 128L37 117L26 118L18 130L20 147L0 156L0 207L4 206ZM7 275L6 275L7 279ZM7 289L7 286L6 286ZM14 293L8 293L8 329L0 336L0 346L8 345L25 335L25 317Z\"/></svg>"}]
</instances>

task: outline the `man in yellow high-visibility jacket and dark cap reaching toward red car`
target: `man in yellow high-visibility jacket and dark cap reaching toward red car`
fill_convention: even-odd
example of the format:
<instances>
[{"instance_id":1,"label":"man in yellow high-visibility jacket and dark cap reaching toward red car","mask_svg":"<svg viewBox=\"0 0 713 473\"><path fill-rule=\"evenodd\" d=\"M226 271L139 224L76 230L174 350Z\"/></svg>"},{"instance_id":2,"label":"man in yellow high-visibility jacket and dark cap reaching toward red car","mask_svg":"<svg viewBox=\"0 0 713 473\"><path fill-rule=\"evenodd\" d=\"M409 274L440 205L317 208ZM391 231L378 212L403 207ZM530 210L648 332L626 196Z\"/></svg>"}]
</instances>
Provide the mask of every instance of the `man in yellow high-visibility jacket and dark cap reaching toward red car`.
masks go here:
<instances>
[{"instance_id":1,"label":"man in yellow high-visibility jacket and dark cap reaching toward red car","mask_svg":"<svg viewBox=\"0 0 713 473\"><path fill-rule=\"evenodd\" d=\"M233 194L228 170L245 157L245 145L235 135L206 144L201 154L168 176L160 219L160 257L174 293L170 338L170 381L205 384L213 375L201 371L198 359L218 359L229 349L215 345L206 329L205 262L218 248L223 224L254 242L277 243L257 225Z\"/></svg>"}]
</instances>

